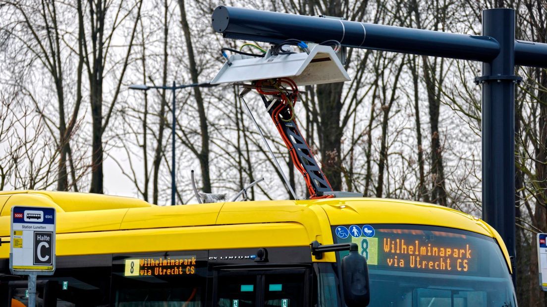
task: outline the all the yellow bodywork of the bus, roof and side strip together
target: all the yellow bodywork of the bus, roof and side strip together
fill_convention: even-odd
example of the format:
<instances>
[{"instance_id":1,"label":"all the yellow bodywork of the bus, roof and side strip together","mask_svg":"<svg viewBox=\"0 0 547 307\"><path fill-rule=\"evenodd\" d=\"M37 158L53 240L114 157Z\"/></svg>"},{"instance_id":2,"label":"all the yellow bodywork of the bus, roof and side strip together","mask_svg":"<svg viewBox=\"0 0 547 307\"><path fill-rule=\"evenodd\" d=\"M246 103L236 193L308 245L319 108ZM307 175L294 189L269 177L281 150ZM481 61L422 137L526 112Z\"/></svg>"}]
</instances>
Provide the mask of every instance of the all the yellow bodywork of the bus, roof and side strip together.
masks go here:
<instances>
[{"instance_id":1,"label":"all the yellow bodywork of the bus, roof and side strip together","mask_svg":"<svg viewBox=\"0 0 547 307\"><path fill-rule=\"evenodd\" d=\"M411 224L449 227L496 239L484 221L440 205L380 198L270 200L156 206L143 200L89 193L1 192L0 237L9 238L13 205L57 210L57 256L165 250L235 249L333 244L331 226ZM9 245L0 246L8 258ZM310 261L312 257L310 255ZM313 261L317 261L313 259ZM334 252L320 261L336 261Z\"/></svg>"}]
</instances>

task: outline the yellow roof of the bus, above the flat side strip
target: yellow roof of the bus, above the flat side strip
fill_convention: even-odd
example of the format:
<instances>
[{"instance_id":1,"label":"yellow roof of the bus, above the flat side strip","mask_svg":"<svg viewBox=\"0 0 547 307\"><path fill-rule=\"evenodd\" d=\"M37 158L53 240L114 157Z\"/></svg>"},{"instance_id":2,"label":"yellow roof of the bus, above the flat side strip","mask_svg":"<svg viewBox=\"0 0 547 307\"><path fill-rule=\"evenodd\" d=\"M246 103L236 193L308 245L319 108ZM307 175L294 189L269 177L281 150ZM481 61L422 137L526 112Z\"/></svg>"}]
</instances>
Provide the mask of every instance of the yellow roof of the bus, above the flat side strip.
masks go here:
<instances>
[{"instance_id":1,"label":"yellow roof of the bus, above the flat side strip","mask_svg":"<svg viewBox=\"0 0 547 307\"><path fill-rule=\"evenodd\" d=\"M282 234L266 235L266 241L261 238L264 246L294 246L307 245L313 240L322 244L332 244L331 226L335 225L382 223L450 227L496 239L509 263L507 249L501 237L484 221L445 206L407 200L327 198L157 206L135 198L91 193L0 192L0 237L9 236L9 215L13 205L54 207L57 210L57 234L120 230L142 232L143 229L174 227L194 227L195 231L199 231L200 227L207 227L209 232L226 232L234 229L241 233L246 232L247 237L243 243L237 240L240 234L234 234L228 240L229 243L224 243L233 247L252 247L248 233L257 228L267 228ZM130 235L131 232L125 234ZM220 237L222 236L218 237L219 244L223 245ZM249 244L251 246L248 246ZM201 245L198 243L194 244L196 248L199 246ZM1 251L2 247L0 257L4 254ZM58 246L58 252L59 247L61 246Z\"/></svg>"}]
</instances>

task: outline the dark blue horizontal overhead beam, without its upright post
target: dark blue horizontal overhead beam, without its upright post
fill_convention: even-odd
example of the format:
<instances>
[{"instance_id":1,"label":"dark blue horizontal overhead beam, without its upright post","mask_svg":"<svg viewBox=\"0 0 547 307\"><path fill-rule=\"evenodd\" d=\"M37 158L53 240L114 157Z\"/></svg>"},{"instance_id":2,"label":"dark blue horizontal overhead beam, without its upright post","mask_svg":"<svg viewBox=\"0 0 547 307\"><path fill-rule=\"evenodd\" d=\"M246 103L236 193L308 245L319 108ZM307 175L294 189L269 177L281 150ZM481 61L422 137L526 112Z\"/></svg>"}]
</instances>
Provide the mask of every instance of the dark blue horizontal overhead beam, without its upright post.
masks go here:
<instances>
[{"instance_id":1,"label":"dark blue horizontal overhead beam, without its upright post","mask_svg":"<svg viewBox=\"0 0 547 307\"><path fill-rule=\"evenodd\" d=\"M500 52L489 36L376 25L315 16L220 6L213 11L214 31L225 38L280 43L289 38L321 43L334 39L351 48L489 62ZM547 67L547 44L515 40L515 64Z\"/></svg>"}]
</instances>

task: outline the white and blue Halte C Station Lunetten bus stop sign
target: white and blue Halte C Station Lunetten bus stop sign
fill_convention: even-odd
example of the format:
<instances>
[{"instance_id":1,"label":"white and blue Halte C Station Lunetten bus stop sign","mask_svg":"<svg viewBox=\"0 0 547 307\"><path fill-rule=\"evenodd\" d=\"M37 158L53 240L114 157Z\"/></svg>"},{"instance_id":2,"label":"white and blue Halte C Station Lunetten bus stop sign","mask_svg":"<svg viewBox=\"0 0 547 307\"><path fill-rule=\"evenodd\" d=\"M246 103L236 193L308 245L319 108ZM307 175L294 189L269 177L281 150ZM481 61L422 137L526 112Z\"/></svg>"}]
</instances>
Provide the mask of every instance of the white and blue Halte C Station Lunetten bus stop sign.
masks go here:
<instances>
[{"instance_id":1,"label":"white and blue Halte C Station Lunetten bus stop sign","mask_svg":"<svg viewBox=\"0 0 547 307\"><path fill-rule=\"evenodd\" d=\"M30 272L49 275L55 271L54 208L11 208L9 268L12 274L17 275Z\"/></svg>"}]
</instances>

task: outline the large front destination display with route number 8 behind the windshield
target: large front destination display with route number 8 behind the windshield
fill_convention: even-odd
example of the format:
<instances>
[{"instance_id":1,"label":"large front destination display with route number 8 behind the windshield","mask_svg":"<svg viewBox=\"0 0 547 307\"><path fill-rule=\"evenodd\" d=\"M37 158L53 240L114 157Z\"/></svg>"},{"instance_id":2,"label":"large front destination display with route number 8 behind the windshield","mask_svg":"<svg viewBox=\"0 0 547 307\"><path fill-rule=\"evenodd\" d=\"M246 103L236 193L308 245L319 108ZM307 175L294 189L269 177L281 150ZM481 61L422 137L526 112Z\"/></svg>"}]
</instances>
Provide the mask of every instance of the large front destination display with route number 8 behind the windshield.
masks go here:
<instances>
[{"instance_id":1,"label":"large front destination display with route number 8 behind the windshield","mask_svg":"<svg viewBox=\"0 0 547 307\"><path fill-rule=\"evenodd\" d=\"M381 228L375 229L374 237L367 237L365 231L355 234L350 231L346 238L337 235L337 243L356 243L367 263L378 269L450 274L470 274L478 269L475 240L463 234Z\"/></svg>"}]
</instances>

